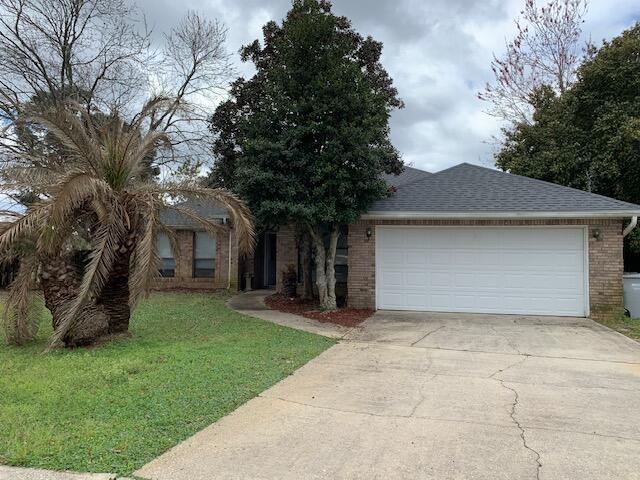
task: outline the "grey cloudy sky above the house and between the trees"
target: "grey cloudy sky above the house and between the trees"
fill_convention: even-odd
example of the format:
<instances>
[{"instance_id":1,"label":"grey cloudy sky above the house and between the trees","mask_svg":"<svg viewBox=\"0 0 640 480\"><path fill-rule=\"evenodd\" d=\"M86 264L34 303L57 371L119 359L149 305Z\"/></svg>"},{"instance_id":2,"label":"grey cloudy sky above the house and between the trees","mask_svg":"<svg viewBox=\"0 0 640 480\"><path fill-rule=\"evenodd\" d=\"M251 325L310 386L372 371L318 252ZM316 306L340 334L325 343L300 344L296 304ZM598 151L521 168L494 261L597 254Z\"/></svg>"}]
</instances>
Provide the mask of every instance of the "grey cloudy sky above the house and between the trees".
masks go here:
<instances>
[{"instance_id":1,"label":"grey cloudy sky above the house and between the trees","mask_svg":"<svg viewBox=\"0 0 640 480\"><path fill-rule=\"evenodd\" d=\"M290 0L137 0L156 32L187 10L215 17L229 28L228 50L238 71L238 49L278 22ZM438 171L460 162L493 165L492 136L500 125L483 112L477 92L491 80L492 52L514 32L524 0L334 0L334 11L384 43L383 64L404 110L393 114L391 135L406 163ZM611 38L640 20L638 0L592 0L585 37Z\"/></svg>"}]
</instances>

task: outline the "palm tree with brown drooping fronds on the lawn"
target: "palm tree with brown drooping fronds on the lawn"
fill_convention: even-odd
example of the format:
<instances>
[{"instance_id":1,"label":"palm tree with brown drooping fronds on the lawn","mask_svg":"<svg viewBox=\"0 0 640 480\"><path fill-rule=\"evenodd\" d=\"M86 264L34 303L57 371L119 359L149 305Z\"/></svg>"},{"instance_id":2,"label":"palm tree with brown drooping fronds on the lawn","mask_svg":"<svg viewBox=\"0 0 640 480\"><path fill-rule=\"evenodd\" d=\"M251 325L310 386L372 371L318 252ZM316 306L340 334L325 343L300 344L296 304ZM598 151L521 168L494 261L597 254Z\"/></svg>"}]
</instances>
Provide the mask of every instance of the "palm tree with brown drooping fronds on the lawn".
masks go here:
<instances>
[{"instance_id":1,"label":"palm tree with brown drooping fronds on the lawn","mask_svg":"<svg viewBox=\"0 0 640 480\"><path fill-rule=\"evenodd\" d=\"M37 158L3 171L4 191L29 188L39 198L0 234L0 255L20 258L4 314L13 342L35 335L37 286L52 314L52 346L88 345L126 332L131 309L158 275L156 235L171 237L159 211L178 210L211 233L223 228L173 205L176 196L225 206L240 252L252 249L249 211L233 194L195 182L149 180L150 159L170 145L163 132L141 132L164 101L149 102L130 123L74 104L24 119L59 148L39 148Z\"/></svg>"}]
</instances>

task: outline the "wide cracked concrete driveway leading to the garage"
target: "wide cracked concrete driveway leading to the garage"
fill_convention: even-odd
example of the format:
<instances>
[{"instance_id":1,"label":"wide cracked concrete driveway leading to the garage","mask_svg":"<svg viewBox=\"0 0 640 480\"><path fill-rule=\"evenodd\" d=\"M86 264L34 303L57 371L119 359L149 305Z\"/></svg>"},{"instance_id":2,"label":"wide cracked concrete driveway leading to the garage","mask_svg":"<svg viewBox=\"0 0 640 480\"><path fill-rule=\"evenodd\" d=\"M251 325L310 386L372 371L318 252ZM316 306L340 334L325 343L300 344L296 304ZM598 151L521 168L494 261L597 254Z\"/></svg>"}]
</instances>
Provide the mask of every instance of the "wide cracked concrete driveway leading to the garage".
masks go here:
<instances>
[{"instance_id":1,"label":"wide cracked concrete driveway leading to the garage","mask_svg":"<svg viewBox=\"0 0 640 480\"><path fill-rule=\"evenodd\" d=\"M585 319L378 312L153 479L640 479L640 344Z\"/></svg>"}]
</instances>

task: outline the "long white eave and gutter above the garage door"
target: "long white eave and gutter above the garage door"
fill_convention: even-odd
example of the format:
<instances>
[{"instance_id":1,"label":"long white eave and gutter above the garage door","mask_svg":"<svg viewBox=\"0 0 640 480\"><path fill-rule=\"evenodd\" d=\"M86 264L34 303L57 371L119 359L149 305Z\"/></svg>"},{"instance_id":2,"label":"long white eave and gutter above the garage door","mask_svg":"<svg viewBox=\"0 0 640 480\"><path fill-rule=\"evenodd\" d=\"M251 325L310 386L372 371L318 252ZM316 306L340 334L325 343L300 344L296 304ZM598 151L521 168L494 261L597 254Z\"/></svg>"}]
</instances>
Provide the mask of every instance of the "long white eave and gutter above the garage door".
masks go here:
<instances>
[{"instance_id":1,"label":"long white eave and gutter above the garage door","mask_svg":"<svg viewBox=\"0 0 640 480\"><path fill-rule=\"evenodd\" d=\"M640 216L640 210L596 210L582 212L403 212L370 211L362 220L437 220L437 219L551 219L551 218L627 218Z\"/></svg>"}]
</instances>

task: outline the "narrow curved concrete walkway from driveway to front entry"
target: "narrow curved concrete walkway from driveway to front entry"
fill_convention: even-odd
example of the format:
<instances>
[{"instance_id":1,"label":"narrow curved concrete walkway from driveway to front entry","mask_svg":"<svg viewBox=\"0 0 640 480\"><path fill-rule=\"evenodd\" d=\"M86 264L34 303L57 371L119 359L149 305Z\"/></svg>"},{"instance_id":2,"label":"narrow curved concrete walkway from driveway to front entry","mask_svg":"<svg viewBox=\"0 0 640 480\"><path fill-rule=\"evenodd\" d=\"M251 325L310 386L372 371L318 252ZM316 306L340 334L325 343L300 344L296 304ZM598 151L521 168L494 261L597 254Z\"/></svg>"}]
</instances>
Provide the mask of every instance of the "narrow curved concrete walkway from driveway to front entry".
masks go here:
<instances>
[{"instance_id":1,"label":"narrow curved concrete walkway from driveway to front entry","mask_svg":"<svg viewBox=\"0 0 640 480\"><path fill-rule=\"evenodd\" d=\"M333 323L321 323L317 320L301 317L300 315L271 310L264 304L264 299L272 294L273 290L244 292L231 298L228 305L232 309L249 315L250 317L260 318L268 322L277 323L278 325L295 328L296 330L304 330L305 332L315 333L325 337L343 338L352 330L351 328Z\"/></svg>"}]
</instances>

